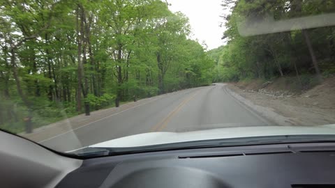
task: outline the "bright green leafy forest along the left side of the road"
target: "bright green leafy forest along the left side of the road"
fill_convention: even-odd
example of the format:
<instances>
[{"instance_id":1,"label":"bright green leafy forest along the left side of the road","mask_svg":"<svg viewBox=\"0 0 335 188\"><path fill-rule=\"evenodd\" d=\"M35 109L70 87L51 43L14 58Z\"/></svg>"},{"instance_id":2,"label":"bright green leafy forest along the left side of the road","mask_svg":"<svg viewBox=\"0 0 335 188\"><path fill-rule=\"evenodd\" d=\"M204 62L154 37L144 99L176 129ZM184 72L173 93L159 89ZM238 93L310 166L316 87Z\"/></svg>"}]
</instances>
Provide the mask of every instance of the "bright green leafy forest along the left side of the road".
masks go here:
<instances>
[{"instance_id":1,"label":"bright green leafy forest along the left side of the road","mask_svg":"<svg viewBox=\"0 0 335 188\"><path fill-rule=\"evenodd\" d=\"M2 0L0 127L31 132L211 83L188 18L160 0Z\"/></svg>"}]
</instances>

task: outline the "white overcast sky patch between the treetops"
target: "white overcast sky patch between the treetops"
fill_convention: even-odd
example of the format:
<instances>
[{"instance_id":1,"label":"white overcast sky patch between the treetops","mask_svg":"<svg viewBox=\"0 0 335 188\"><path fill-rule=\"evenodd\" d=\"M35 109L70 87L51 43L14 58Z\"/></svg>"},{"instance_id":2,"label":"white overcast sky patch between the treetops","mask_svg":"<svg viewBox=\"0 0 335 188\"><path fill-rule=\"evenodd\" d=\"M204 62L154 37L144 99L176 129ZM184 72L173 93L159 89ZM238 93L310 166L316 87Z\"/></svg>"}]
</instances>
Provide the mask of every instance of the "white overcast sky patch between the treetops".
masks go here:
<instances>
[{"instance_id":1,"label":"white overcast sky patch between the treetops","mask_svg":"<svg viewBox=\"0 0 335 188\"><path fill-rule=\"evenodd\" d=\"M168 0L172 12L180 11L190 19L193 39L200 44L204 41L208 49L223 45L224 29L219 25L223 22L222 0Z\"/></svg>"}]
</instances>

